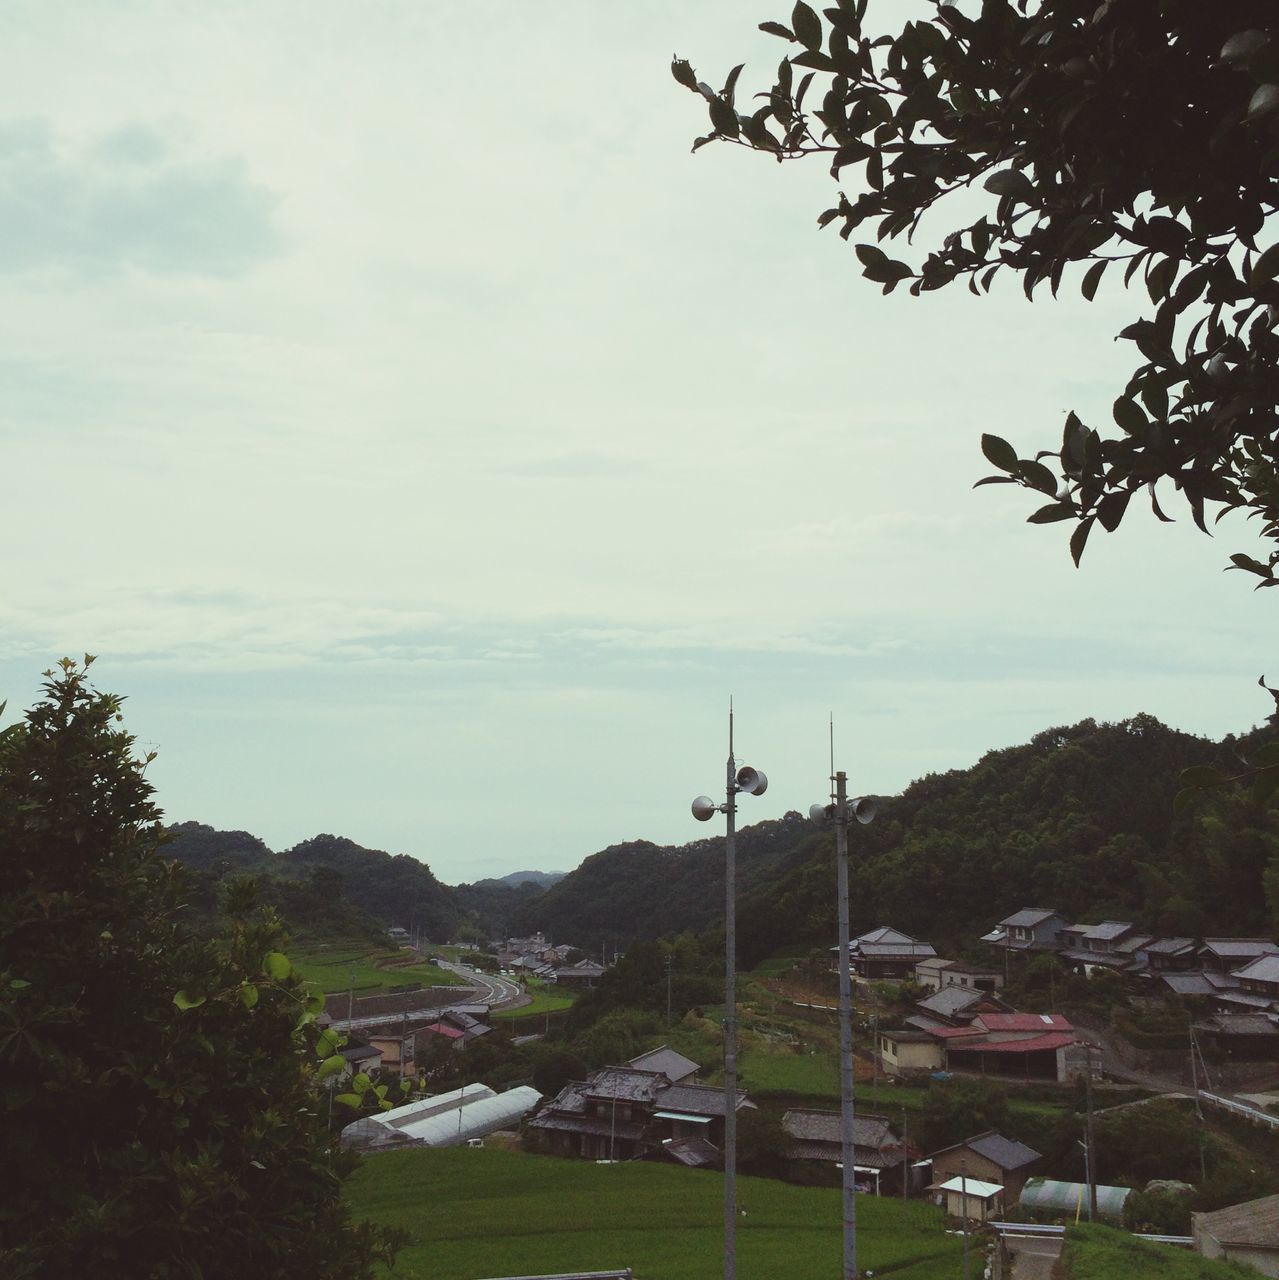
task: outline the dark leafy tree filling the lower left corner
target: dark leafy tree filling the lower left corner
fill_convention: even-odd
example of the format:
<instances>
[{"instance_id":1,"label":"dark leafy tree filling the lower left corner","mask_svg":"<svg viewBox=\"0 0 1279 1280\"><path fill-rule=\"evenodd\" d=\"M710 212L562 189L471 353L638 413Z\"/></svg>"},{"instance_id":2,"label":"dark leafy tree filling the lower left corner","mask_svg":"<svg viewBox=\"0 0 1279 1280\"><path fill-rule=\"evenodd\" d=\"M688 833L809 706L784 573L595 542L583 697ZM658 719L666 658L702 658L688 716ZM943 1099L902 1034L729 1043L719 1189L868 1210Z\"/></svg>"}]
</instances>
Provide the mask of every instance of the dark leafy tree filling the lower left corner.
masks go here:
<instances>
[{"instance_id":1,"label":"dark leafy tree filling the lower left corner","mask_svg":"<svg viewBox=\"0 0 1279 1280\"><path fill-rule=\"evenodd\" d=\"M193 937L120 699L67 659L44 690L0 733L0 1271L370 1275L279 920L241 887Z\"/></svg>"}]
</instances>

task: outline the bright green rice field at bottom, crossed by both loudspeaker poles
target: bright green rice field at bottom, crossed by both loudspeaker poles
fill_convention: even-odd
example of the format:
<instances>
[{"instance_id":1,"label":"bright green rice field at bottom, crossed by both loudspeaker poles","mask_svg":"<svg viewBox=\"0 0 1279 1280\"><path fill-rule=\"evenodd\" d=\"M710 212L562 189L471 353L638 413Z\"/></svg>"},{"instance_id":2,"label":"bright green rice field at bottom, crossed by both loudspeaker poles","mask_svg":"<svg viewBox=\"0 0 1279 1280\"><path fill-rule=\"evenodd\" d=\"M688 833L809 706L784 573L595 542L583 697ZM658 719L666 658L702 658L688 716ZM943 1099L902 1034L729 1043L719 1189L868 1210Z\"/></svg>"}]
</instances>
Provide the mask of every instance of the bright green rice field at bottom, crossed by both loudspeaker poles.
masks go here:
<instances>
[{"instance_id":1,"label":"bright green rice field at bottom, crossed by both loudspeaker poles","mask_svg":"<svg viewBox=\"0 0 1279 1280\"><path fill-rule=\"evenodd\" d=\"M739 1179L744 1276L840 1274L840 1193ZM586 1161L494 1149L389 1152L348 1181L358 1219L408 1231L390 1275L476 1280L632 1267L636 1280L723 1275L723 1180L675 1165ZM937 1210L858 1198L858 1265L892 1280L959 1280L960 1243ZM977 1274L981 1274L978 1266Z\"/></svg>"}]
</instances>

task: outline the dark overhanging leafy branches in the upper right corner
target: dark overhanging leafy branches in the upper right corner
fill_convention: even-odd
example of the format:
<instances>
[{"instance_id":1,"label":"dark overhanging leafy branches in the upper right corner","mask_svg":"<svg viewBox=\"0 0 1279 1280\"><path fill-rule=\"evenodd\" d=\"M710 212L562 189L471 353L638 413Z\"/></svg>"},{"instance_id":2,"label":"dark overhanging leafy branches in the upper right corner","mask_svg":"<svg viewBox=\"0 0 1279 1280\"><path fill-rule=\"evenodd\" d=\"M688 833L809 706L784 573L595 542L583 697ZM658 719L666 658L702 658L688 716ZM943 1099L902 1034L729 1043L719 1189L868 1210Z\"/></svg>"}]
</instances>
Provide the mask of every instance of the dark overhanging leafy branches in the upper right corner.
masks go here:
<instances>
[{"instance_id":1,"label":"dark overhanging leafy branches in the upper right corner","mask_svg":"<svg viewBox=\"0 0 1279 1280\"><path fill-rule=\"evenodd\" d=\"M675 78L709 110L694 150L730 142L778 161L821 156L836 179L860 170L862 189L818 223L862 234L863 275L885 293L956 280L981 293L1001 274L1027 297L1075 275L1088 300L1107 273L1143 287L1152 310L1120 334L1139 364L1114 426L1070 413L1060 448L1027 457L987 435L999 475L981 483L1042 495L1031 521L1073 521L1077 563L1093 525L1115 530L1138 492L1166 520L1160 492L1179 490L1205 531L1210 511L1246 512L1275 549L1232 562L1274 586L1279 6L935 3L882 35L867 3L819 15L800 0L789 23L762 23L794 51L749 101L741 67L716 91L677 58ZM910 242L926 215L941 225L915 262L881 248Z\"/></svg>"}]
</instances>

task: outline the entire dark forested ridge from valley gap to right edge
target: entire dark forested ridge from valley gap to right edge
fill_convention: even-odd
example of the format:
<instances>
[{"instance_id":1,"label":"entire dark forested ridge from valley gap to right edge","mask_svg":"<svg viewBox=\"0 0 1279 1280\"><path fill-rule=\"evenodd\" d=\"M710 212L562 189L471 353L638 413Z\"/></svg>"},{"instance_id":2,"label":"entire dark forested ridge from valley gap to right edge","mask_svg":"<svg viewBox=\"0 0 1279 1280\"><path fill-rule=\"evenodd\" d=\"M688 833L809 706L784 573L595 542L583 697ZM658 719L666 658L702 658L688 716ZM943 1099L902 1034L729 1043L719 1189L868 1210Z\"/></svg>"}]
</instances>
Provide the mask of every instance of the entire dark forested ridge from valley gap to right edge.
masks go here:
<instances>
[{"instance_id":1,"label":"entire dark forested ridge from valley gap to right edge","mask_svg":"<svg viewBox=\"0 0 1279 1280\"><path fill-rule=\"evenodd\" d=\"M1209 796L1173 817L1180 771L1230 769L1235 746L1148 716L1083 721L924 777L881 799L874 823L853 833L854 928L891 923L963 943L1033 905L1168 933L1270 933L1279 924L1279 822L1243 794ZM745 957L825 945L833 832L787 814L744 828L737 847ZM722 838L681 849L639 841L588 858L513 923L595 946L713 925L722 896Z\"/></svg>"}]
</instances>

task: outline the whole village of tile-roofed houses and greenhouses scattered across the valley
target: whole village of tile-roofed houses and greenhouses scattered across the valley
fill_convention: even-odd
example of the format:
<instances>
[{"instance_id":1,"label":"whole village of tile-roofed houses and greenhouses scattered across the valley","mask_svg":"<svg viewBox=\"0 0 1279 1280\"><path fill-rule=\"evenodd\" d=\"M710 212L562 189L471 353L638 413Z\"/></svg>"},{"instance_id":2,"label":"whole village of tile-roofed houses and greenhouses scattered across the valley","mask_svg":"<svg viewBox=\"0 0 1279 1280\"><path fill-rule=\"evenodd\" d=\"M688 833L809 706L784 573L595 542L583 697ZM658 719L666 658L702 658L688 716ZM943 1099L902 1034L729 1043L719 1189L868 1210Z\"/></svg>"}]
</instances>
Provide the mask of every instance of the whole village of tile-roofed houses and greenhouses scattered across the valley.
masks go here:
<instances>
[{"instance_id":1,"label":"whole village of tile-roofed houses and greenhouses scattered across the valley","mask_svg":"<svg viewBox=\"0 0 1279 1280\"><path fill-rule=\"evenodd\" d=\"M1092 1140L1093 1087L1098 1098L1122 1084L1139 1089L1123 1094L1132 1101L1098 1101L1097 1116L1111 1108L1161 1103L1180 1107L1186 1123L1215 1108L1266 1135L1279 1129L1279 1119L1269 1110L1279 1102L1279 1093L1266 1088L1279 1083L1279 945L1273 941L1156 937L1130 922L1077 924L1051 909L1023 908L993 923L965 950L985 952L988 960L947 959L931 943L889 925L851 940L859 1092L878 1096L882 1087L871 1083L878 1080L890 1089L924 1091L956 1080L996 1083L1014 1092L1082 1084L1088 1098L1087 1114L1079 1119L1082 1148ZM837 969L837 948L831 951L827 980ZM540 934L493 943L487 959L495 960L497 980L506 986L494 987L493 973L471 970L492 993L489 1002L458 1001L419 1010L411 1019L401 1015L380 1028L361 1029L362 1039L352 1039L342 1052L351 1070L415 1075L419 1061L428 1061L425 1055L419 1057L424 1046L444 1041L465 1053L469 1043L494 1034L494 1010L527 1000L521 987L530 979L589 991L623 959L615 955L607 965L586 959L566 963L580 955L577 948L549 945ZM1065 975L1059 991L1063 1001L1069 998L1072 979L1078 989L1079 982L1096 983L1098 974L1106 974L1097 984L1114 988L1122 983L1125 998L1137 1007L1171 1002L1193 1010L1187 1014L1183 1046L1142 1053L1113 1025L1087 1015L1066 1016L1051 1004L1051 995L1043 1005L1017 1007L1009 995L1024 987L1018 979L1038 957L1050 957L1052 972ZM830 1018L833 1005L819 993L823 983L813 983L809 974L807 983L796 986L801 974L796 961L789 980L776 989L790 997L800 1016ZM776 998L772 1007L778 1007ZM421 1085L430 1088L429 1079ZM725 1106L713 1059L698 1061L661 1043L570 1079L548 1096L529 1084L498 1092L483 1080L469 1082L361 1117L346 1126L342 1140L374 1153L497 1140L600 1165L656 1160L717 1169L722 1167ZM757 1100L749 1088L737 1091L739 1121L760 1108L776 1112L780 1121L777 1167L782 1176L818 1183L837 1179L837 1108L778 1106L773 1096ZM1015 1252L1026 1222L1040 1222L1043 1230L1079 1220L1139 1229L1130 1207L1125 1213L1134 1192L1154 1188L1175 1201L1192 1189L1169 1178L1152 1178L1150 1185L1134 1188L1100 1183L1095 1172L1070 1176L1015 1132L977 1129L927 1149L912 1138L906 1116L905 1108L880 1114L873 1103L855 1105L858 1189L936 1204L965 1229L995 1229L1004 1249ZM1095 1171L1097 1161L1088 1161L1088 1155L1084 1149L1086 1170ZM1259 1243L1273 1239L1275 1221L1279 1197L1269 1196L1195 1213L1182 1233L1154 1234L1206 1257L1243 1258L1264 1274L1279 1275L1279 1242ZM1026 1239L1038 1242L1034 1248L1043 1247L1040 1235Z\"/></svg>"}]
</instances>

